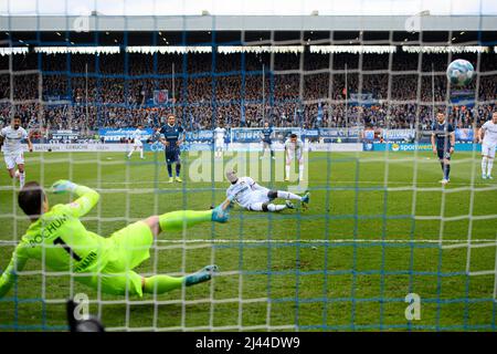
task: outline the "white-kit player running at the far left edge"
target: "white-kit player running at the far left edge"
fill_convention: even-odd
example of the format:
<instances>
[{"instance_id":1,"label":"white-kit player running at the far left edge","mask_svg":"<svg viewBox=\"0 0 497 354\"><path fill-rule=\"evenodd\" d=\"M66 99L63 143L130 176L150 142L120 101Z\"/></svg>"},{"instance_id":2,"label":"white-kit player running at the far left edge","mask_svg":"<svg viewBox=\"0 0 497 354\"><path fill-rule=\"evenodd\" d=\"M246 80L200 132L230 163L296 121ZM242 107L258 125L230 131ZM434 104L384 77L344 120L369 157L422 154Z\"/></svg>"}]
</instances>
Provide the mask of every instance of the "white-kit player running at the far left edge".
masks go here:
<instances>
[{"instance_id":1,"label":"white-kit player running at the far left edge","mask_svg":"<svg viewBox=\"0 0 497 354\"><path fill-rule=\"evenodd\" d=\"M24 153L22 140L28 142L30 152L33 150L28 132L21 127L21 118L14 116L11 125L0 131L0 147L3 145L3 158L6 160L7 169L10 178L19 178L20 187L24 187L25 170L24 170ZM15 170L15 165L18 169Z\"/></svg>"}]
</instances>

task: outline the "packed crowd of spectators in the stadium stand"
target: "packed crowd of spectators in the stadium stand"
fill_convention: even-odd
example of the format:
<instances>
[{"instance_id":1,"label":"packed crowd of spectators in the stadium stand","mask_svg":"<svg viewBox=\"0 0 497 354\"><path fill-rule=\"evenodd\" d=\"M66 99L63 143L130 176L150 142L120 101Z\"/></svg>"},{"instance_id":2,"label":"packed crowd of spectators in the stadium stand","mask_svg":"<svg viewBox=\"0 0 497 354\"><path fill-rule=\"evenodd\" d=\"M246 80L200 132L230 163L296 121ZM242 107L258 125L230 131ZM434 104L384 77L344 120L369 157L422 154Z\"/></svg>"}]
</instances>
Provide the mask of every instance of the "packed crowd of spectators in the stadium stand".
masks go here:
<instances>
[{"instance_id":1,"label":"packed crowd of spectators in the stadium stand","mask_svg":"<svg viewBox=\"0 0 497 354\"><path fill-rule=\"evenodd\" d=\"M462 54L478 80L451 92L446 54L28 54L0 75L0 124L12 105L28 127L96 131L156 126L173 112L187 129L225 126L427 128L447 110L458 127L488 119L497 98L497 54ZM0 70L9 69L0 58ZM34 70L34 71L33 71ZM38 71L36 71L38 70ZM24 73L24 71L27 71ZM264 79L263 79L264 77ZM477 87L476 87L477 86ZM477 90L476 90L477 88ZM166 105L155 90L168 90ZM462 92L463 91L463 92ZM370 102L357 102L357 94Z\"/></svg>"}]
</instances>

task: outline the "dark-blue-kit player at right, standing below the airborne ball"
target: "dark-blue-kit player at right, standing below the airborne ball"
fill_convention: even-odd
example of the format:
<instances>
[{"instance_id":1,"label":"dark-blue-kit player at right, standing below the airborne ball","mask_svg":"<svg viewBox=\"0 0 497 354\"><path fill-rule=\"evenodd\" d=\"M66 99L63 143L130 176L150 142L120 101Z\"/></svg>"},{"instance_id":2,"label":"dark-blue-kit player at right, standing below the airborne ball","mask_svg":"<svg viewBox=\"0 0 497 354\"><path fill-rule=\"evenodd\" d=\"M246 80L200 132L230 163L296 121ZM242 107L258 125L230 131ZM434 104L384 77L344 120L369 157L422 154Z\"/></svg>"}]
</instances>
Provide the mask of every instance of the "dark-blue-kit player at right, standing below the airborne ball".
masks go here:
<instances>
[{"instance_id":1,"label":"dark-blue-kit player at right, standing below the airborne ball","mask_svg":"<svg viewBox=\"0 0 497 354\"><path fill-rule=\"evenodd\" d=\"M454 153L455 133L454 127L446 121L443 112L436 114L436 121L432 126L432 148L433 154L438 156L444 174L440 183L446 185L451 181L451 154Z\"/></svg>"}]
</instances>

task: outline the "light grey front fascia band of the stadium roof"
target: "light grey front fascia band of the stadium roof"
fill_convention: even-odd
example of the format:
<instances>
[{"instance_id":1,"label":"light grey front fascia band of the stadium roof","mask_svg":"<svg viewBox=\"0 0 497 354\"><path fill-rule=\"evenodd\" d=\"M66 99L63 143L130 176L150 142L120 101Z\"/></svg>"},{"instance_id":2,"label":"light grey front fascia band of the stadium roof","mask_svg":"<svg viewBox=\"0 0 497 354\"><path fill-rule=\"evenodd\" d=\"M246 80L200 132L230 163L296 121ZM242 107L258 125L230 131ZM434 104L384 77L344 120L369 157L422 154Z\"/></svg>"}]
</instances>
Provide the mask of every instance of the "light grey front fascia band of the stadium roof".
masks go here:
<instances>
[{"instance_id":1,"label":"light grey front fascia band of the stadium roof","mask_svg":"<svg viewBox=\"0 0 497 354\"><path fill-rule=\"evenodd\" d=\"M497 15L10 15L2 31L496 31Z\"/></svg>"}]
</instances>

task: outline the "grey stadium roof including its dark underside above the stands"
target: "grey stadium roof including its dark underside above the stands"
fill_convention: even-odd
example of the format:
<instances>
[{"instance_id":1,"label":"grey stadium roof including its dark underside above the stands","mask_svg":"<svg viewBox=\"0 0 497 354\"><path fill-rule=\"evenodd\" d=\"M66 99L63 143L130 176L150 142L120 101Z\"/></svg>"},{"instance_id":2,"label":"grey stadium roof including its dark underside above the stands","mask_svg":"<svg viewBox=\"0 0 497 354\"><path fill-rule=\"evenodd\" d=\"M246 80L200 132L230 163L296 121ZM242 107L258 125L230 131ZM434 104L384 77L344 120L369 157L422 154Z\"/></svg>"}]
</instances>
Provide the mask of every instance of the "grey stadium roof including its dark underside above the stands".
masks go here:
<instances>
[{"instance_id":1,"label":"grey stadium roof including its dark underside above the stands","mask_svg":"<svg viewBox=\"0 0 497 354\"><path fill-rule=\"evenodd\" d=\"M420 42L496 45L497 15L0 15L0 46Z\"/></svg>"}]
</instances>

